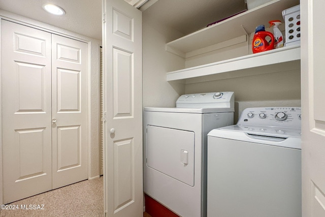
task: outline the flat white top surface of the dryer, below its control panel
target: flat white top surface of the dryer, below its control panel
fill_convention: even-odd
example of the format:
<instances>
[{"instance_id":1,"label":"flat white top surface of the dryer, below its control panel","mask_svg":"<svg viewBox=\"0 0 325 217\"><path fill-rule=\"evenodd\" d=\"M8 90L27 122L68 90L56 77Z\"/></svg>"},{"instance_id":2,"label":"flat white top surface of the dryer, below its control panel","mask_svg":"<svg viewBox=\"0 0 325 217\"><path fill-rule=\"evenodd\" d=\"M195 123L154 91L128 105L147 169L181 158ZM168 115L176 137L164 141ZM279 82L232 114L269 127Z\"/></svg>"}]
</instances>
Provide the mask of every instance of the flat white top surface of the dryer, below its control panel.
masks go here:
<instances>
[{"instance_id":1,"label":"flat white top surface of the dryer, below its control panel","mask_svg":"<svg viewBox=\"0 0 325 217\"><path fill-rule=\"evenodd\" d=\"M157 108L145 107L144 111L152 112L174 112L174 113L219 113L219 112L234 112L234 108Z\"/></svg>"}]
</instances>

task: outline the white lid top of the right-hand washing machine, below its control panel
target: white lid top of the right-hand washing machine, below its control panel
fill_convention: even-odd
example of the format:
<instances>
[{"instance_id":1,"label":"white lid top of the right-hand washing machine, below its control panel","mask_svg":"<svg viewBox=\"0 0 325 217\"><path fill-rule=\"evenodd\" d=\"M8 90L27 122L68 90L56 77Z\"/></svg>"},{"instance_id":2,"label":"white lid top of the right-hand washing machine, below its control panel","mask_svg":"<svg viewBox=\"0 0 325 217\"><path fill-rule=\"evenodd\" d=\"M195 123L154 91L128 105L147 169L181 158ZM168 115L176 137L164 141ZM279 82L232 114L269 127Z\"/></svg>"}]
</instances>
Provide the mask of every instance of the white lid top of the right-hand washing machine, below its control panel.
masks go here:
<instances>
[{"instance_id":1,"label":"white lid top of the right-hand washing machine, below its control panel","mask_svg":"<svg viewBox=\"0 0 325 217\"><path fill-rule=\"evenodd\" d=\"M299 128L233 125L214 129L208 133L208 136L301 149Z\"/></svg>"}]
</instances>

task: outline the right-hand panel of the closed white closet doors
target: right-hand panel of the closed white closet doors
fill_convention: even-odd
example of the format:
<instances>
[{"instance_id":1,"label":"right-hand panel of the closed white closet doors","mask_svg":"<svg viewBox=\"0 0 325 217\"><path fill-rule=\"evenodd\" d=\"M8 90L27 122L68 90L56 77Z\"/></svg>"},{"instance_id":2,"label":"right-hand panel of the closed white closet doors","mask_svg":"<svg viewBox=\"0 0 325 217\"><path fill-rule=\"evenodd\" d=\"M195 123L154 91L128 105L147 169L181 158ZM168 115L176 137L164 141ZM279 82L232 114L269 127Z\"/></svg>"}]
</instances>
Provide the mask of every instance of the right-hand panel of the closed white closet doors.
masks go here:
<instances>
[{"instance_id":1,"label":"right-hand panel of the closed white closet doors","mask_svg":"<svg viewBox=\"0 0 325 217\"><path fill-rule=\"evenodd\" d=\"M53 189L88 178L87 50L52 35Z\"/></svg>"}]
</instances>

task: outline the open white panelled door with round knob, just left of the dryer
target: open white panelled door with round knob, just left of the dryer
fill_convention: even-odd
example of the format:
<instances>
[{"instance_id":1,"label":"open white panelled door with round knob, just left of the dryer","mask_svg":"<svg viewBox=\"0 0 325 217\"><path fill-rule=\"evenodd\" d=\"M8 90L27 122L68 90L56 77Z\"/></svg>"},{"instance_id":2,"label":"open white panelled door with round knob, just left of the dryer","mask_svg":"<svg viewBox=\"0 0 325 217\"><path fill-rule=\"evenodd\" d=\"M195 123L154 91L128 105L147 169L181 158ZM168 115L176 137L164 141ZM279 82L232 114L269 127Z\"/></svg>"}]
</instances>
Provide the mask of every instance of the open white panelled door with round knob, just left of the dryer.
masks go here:
<instances>
[{"instance_id":1,"label":"open white panelled door with round knob, just left of the dryer","mask_svg":"<svg viewBox=\"0 0 325 217\"><path fill-rule=\"evenodd\" d=\"M103 2L105 209L142 216L142 14L123 0Z\"/></svg>"}]
</instances>

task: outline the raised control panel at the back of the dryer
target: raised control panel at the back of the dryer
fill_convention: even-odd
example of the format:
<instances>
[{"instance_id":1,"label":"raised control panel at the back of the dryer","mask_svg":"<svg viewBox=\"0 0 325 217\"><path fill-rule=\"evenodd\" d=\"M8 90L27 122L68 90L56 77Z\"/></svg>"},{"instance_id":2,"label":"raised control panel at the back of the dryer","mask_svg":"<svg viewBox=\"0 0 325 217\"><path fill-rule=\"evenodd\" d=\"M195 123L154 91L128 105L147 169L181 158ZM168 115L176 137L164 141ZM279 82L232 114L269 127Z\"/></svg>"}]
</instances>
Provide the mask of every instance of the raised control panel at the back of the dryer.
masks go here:
<instances>
[{"instance_id":1,"label":"raised control panel at the back of the dryer","mask_svg":"<svg viewBox=\"0 0 325 217\"><path fill-rule=\"evenodd\" d=\"M176 101L176 108L234 108L234 92L185 94Z\"/></svg>"}]
</instances>

